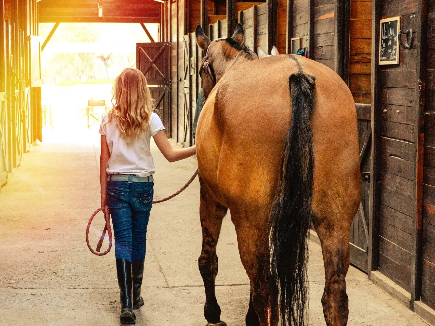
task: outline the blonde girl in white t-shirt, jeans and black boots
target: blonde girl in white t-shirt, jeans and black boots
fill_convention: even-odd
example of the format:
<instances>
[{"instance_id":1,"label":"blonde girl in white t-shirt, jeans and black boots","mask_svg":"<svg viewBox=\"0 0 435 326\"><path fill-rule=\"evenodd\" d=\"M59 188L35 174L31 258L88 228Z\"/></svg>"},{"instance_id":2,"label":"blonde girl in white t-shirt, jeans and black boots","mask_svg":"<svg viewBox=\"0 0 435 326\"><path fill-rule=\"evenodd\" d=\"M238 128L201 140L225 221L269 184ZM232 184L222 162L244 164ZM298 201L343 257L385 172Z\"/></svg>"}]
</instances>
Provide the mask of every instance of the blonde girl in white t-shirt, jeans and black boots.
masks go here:
<instances>
[{"instance_id":1,"label":"blonde girl in white t-shirt, jeans and black boots","mask_svg":"<svg viewBox=\"0 0 435 326\"><path fill-rule=\"evenodd\" d=\"M115 233L115 256L120 287L120 322L134 324L144 273L145 236L153 202L151 136L169 162L196 152L192 146L173 149L164 126L153 113L154 100L140 70L127 68L114 82L114 107L101 118L101 207L109 206Z\"/></svg>"}]
</instances>

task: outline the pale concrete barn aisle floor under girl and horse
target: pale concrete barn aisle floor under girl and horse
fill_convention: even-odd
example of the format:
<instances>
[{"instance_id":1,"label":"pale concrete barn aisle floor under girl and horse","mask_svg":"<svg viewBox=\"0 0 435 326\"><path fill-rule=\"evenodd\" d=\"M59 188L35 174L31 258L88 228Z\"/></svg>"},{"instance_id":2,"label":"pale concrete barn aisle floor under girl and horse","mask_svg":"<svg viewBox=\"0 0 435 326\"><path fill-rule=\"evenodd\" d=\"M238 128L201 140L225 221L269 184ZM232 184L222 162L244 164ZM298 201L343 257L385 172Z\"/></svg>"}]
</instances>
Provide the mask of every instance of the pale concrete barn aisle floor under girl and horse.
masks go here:
<instances>
[{"instance_id":1,"label":"pale concrete barn aisle floor under girl and horse","mask_svg":"<svg viewBox=\"0 0 435 326\"><path fill-rule=\"evenodd\" d=\"M94 142L97 144L97 142ZM196 169L194 159L167 163L153 144L155 198L178 190ZM0 325L118 325L120 310L114 249L89 252L85 229L99 206L98 146L34 146L0 193ZM197 269L201 250L196 179L181 195L151 211L145 260L145 306L137 325L204 326L204 287ZM102 216L91 229L95 247ZM107 243L103 249L107 247ZM244 325L248 278L241 265L234 226L225 217L218 243L216 279L222 320ZM309 325L325 325L321 249L310 244ZM348 325L427 325L350 268Z\"/></svg>"}]
</instances>

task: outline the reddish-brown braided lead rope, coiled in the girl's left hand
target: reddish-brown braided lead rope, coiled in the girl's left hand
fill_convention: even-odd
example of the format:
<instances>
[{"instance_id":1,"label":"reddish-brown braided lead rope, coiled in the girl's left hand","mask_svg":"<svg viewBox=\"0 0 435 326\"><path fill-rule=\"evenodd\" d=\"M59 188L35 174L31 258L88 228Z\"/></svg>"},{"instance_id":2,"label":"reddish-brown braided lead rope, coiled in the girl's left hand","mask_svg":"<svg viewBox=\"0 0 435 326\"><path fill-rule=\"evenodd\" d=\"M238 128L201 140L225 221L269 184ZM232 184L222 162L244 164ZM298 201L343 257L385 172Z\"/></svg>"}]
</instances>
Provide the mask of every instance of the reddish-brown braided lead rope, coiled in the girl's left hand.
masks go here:
<instances>
[{"instance_id":1,"label":"reddish-brown braided lead rope, coiled in the girl's left hand","mask_svg":"<svg viewBox=\"0 0 435 326\"><path fill-rule=\"evenodd\" d=\"M177 196L178 194L183 192L193 182L193 180L196 178L197 175L198 175L198 169L196 169L196 171L193 174L193 176L191 176L189 181L187 181L187 183L184 186L182 186L180 190L178 190L176 193L173 193L171 196L167 196L166 198L163 198L163 199L160 199L160 200L153 200L153 204L163 203L163 202L165 202L167 200L170 200L171 198L174 198L175 196ZM92 223L92 220L94 220L95 215L97 215L97 213L100 212L100 211L103 211L103 213L104 213L104 221L106 223L104 225L103 233L101 233L100 240L98 240L97 248L95 248L95 250L94 250L94 249L92 249L92 247L89 244L89 229L90 229L90 224ZM104 253L100 253L101 246L103 245L104 237L106 236L106 232L109 235L109 248L107 248L107 250L104 251ZM97 209L90 216L89 222L87 223L87 227L86 227L86 244L87 244L87 247L89 248L90 252L93 253L94 255L104 256L105 254L107 254L110 251L110 249L112 249L112 241L113 241L113 237L112 237L112 228L110 227L109 206L104 206L104 208L100 207L99 209Z\"/></svg>"}]
</instances>

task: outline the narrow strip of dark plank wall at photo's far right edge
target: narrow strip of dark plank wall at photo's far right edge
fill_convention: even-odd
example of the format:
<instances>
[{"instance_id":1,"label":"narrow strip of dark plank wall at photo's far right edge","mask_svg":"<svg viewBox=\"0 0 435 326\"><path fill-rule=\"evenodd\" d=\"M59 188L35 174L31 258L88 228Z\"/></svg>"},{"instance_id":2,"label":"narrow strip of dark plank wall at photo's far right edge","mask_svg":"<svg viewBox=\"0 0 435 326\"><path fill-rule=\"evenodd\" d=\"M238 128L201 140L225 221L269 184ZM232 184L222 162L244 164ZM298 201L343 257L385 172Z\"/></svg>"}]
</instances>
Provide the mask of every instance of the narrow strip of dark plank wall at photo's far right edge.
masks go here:
<instances>
[{"instance_id":1,"label":"narrow strip of dark plank wall at photo's far right edge","mask_svg":"<svg viewBox=\"0 0 435 326\"><path fill-rule=\"evenodd\" d=\"M422 301L435 309L435 1L428 1Z\"/></svg>"}]
</instances>

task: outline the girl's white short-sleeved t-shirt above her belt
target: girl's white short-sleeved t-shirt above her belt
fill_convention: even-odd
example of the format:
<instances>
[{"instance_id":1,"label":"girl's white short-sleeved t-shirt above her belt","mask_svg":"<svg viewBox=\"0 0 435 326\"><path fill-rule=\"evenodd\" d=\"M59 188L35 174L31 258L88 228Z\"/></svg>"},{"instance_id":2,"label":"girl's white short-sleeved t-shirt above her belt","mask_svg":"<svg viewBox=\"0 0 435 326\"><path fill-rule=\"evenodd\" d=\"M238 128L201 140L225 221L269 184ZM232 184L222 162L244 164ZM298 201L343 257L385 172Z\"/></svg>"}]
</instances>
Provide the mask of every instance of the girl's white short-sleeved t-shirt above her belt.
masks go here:
<instances>
[{"instance_id":1,"label":"girl's white short-sleeved t-shirt above her belt","mask_svg":"<svg viewBox=\"0 0 435 326\"><path fill-rule=\"evenodd\" d=\"M116 118L109 123L107 113L101 118L98 133L106 136L109 146L110 159L106 165L108 174L135 174L137 176L151 176L155 172L153 156L150 151L151 137L164 130L164 126L156 113L151 113L150 128L137 136L134 141L125 141L119 133Z\"/></svg>"}]
</instances>

